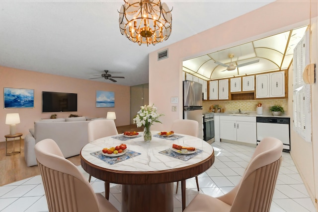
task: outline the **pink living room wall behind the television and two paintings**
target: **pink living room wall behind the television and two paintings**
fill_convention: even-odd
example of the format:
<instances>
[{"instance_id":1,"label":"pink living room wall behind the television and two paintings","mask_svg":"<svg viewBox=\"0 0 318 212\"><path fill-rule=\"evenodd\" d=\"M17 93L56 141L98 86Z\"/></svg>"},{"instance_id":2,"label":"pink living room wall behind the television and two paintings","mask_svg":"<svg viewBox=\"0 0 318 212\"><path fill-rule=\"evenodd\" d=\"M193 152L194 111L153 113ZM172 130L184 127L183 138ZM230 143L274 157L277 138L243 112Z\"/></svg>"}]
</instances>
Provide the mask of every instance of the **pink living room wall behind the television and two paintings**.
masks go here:
<instances>
[{"instance_id":1,"label":"pink living room wall behind the television and two paintings","mask_svg":"<svg viewBox=\"0 0 318 212\"><path fill-rule=\"evenodd\" d=\"M3 87L34 89L34 108L3 109ZM34 127L34 121L50 118L51 114L57 114L57 118L66 118L70 114L106 118L108 111L115 111L116 126L130 124L129 86L0 67L0 88L0 141L5 141L4 135L9 134L9 126L5 125L7 113L19 113L21 123L16 128L17 132L23 133L22 138L29 128ZM96 108L96 90L114 91L115 107ZM42 113L42 91L77 93L78 111Z\"/></svg>"}]
</instances>

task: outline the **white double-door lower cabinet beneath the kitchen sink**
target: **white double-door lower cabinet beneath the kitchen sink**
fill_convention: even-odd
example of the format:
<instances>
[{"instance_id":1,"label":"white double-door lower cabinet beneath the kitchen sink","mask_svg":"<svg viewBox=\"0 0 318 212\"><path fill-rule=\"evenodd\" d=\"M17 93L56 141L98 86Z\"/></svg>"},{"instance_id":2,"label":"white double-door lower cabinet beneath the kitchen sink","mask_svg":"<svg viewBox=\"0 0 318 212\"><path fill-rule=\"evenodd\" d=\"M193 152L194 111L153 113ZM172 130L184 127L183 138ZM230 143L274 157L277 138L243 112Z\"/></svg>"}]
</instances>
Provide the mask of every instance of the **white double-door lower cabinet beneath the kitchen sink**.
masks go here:
<instances>
[{"instance_id":1,"label":"white double-door lower cabinet beneath the kitchen sink","mask_svg":"<svg viewBox=\"0 0 318 212\"><path fill-rule=\"evenodd\" d=\"M220 116L220 139L256 145L256 117Z\"/></svg>"}]
</instances>

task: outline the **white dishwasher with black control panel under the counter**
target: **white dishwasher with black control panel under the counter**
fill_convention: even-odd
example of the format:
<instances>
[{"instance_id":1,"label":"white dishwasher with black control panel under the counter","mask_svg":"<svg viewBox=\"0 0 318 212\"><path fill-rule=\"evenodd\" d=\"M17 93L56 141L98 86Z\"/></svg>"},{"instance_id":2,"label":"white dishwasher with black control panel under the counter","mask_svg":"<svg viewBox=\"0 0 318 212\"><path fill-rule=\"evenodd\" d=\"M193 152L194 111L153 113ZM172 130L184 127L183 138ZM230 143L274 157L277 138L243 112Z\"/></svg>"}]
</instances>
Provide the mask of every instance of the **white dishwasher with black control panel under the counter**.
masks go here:
<instances>
[{"instance_id":1,"label":"white dishwasher with black control panel under the counter","mask_svg":"<svg viewBox=\"0 0 318 212\"><path fill-rule=\"evenodd\" d=\"M290 118L256 117L257 144L265 137L274 137L283 142L283 151L290 151Z\"/></svg>"}]
</instances>

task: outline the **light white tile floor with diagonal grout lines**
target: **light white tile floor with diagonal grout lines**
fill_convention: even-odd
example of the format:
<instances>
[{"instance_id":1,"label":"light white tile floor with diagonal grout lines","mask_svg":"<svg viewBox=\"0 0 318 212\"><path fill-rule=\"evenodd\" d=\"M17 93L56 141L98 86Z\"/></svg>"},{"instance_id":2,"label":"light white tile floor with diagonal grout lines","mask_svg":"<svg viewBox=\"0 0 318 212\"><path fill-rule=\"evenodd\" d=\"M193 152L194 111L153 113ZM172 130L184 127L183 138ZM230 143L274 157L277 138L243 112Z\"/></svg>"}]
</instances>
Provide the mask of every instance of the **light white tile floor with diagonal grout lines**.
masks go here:
<instances>
[{"instance_id":1,"label":"light white tile floor with diagonal grout lines","mask_svg":"<svg viewBox=\"0 0 318 212\"><path fill-rule=\"evenodd\" d=\"M229 192L236 185L254 152L254 147L214 142L215 162L210 169L199 175L200 193L217 197ZM289 153L283 152L270 212L315 212L303 181ZM88 179L88 174L79 169ZM95 192L104 192L104 182L92 178ZM110 185L109 201L120 211L120 185ZM174 184L174 187L176 184ZM195 178L186 181L187 204L198 193ZM175 188L174 188L175 189ZM181 193L174 195L174 212L181 212ZM41 176L35 176L0 187L1 212L48 211Z\"/></svg>"}]
</instances>

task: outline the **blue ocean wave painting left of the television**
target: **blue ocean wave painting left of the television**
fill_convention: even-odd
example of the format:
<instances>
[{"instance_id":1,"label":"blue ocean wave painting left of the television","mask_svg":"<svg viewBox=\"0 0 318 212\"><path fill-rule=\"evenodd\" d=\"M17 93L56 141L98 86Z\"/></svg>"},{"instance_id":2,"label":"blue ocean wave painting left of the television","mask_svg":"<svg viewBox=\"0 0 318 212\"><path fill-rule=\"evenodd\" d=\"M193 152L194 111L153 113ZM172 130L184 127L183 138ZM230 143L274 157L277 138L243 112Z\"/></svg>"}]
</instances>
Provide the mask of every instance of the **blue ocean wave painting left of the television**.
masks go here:
<instances>
[{"instance_id":1,"label":"blue ocean wave painting left of the television","mask_svg":"<svg viewBox=\"0 0 318 212\"><path fill-rule=\"evenodd\" d=\"M34 90L23 88L8 88L3 91L4 108L33 108Z\"/></svg>"}]
</instances>

